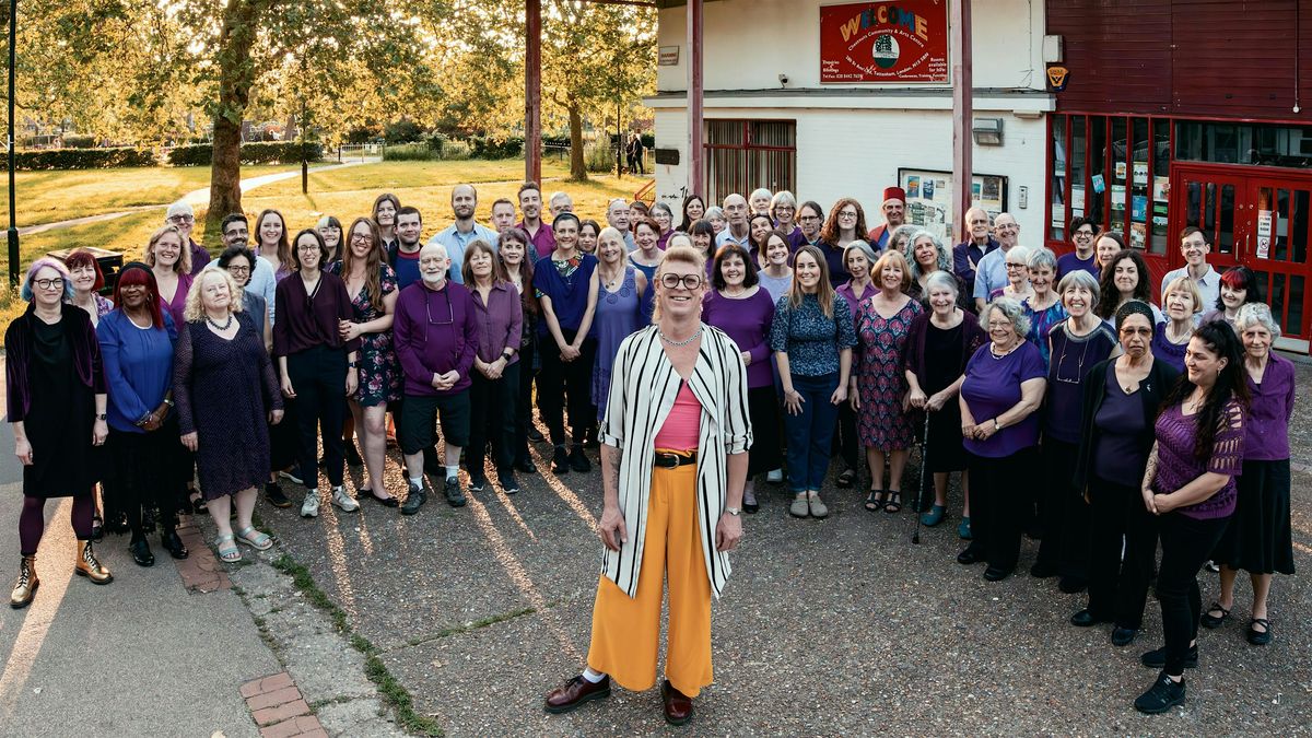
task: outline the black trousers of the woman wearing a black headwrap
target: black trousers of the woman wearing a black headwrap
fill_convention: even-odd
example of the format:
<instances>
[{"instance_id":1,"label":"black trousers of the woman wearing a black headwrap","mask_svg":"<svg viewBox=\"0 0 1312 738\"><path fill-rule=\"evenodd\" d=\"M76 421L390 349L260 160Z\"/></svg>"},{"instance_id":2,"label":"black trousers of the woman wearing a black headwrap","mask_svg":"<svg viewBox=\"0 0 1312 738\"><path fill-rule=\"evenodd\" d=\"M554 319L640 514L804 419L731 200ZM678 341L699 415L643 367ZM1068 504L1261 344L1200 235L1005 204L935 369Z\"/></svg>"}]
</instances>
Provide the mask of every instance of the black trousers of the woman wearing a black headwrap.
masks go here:
<instances>
[{"instance_id":1,"label":"black trousers of the woman wearing a black headwrap","mask_svg":"<svg viewBox=\"0 0 1312 738\"><path fill-rule=\"evenodd\" d=\"M1122 555L1123 553L1123 555ZM1157 561L1157 517L1138 486L1089 478L1089 612L1139 630Z\"/></svg>"}]
</instances>

